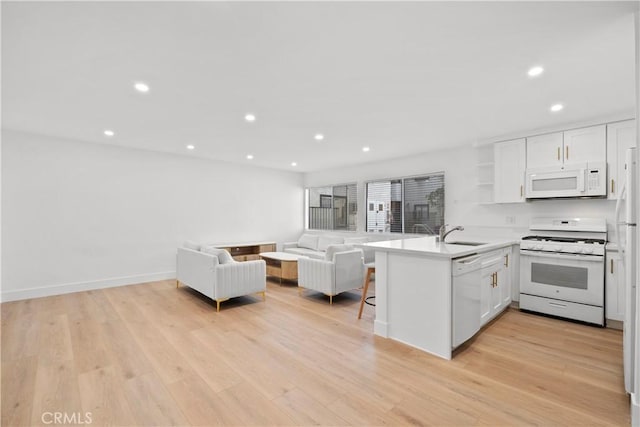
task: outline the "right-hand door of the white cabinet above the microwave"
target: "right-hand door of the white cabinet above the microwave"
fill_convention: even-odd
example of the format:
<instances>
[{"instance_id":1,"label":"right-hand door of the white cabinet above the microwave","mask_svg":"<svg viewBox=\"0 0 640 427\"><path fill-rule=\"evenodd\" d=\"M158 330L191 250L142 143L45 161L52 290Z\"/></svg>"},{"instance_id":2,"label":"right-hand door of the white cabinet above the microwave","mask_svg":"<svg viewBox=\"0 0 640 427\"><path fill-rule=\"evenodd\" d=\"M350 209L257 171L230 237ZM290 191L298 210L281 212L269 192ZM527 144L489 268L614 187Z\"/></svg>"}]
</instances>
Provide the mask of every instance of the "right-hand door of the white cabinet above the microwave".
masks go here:
<instances>
[{"instance_id":1,"label":"right-hand door of the white cabinet above the microwave","mask_svg":"<svg viewBox=\"0 0 640 427\"><path fill-rule=\"evenodd\" d=\"M607 160L605 125L569 130L564 133L564 164L605 162Z\"/></svg>"}]
</instances>

